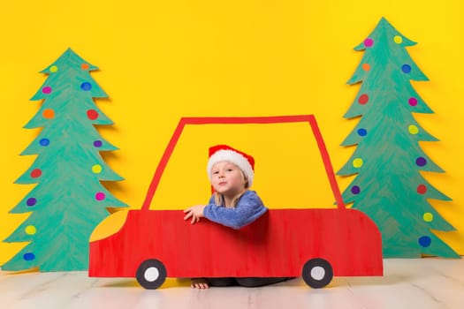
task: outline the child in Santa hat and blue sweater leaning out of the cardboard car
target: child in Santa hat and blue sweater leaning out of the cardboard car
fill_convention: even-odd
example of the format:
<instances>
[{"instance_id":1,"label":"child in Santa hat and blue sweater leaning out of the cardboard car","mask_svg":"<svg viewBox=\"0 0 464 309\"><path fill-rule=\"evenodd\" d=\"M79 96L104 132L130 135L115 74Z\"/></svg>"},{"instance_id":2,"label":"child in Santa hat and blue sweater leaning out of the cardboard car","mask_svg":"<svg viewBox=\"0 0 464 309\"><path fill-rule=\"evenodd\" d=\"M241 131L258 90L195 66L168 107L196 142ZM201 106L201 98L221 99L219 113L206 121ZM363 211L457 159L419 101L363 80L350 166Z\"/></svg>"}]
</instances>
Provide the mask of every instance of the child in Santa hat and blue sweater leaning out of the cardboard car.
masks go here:
<instances>
[{"instance_id":1,"label":"child in Santa hat and blue sweater leaning out of the cardboard car","mask_svg":"<svg viewBox=\"0 0 464 309\"><path fill-rule=\"evenodd\" d=\"M207 172L214 193L208 205L197 205L184 210L184 220L194 224L203 216L232 229L254 222L268 209L255 191L247 190L255 176L255 160L251 155L226 145L209 148ZM194 278L192 288L208 289L211 286L241 285L256 287L279 283L288 278Z\"/></svg>"}]
</instances>

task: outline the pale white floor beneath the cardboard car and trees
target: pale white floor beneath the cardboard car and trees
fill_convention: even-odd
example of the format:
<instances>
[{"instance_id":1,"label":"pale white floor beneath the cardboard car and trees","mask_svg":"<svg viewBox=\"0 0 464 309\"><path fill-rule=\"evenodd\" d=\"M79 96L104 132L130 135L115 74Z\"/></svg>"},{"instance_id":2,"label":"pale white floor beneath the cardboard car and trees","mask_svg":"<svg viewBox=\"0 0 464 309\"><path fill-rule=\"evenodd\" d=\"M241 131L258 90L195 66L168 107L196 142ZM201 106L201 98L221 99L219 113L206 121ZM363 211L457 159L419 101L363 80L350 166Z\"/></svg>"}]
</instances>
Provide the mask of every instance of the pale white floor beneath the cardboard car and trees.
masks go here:
<instances>
[{"instance_id":1,"label":"pale white floor beneath the cardboard car and trees","mask_svg":"<svg viewBox=\"0 0 464 309\"><path fill-rule=\"evenodd\" d=\"M168 279L144 290L135 279L88 278L86 272L0 271L1 308L464 308L464 259L384 260L383 277L335 277L313 290L300 278L263 288L193 290Z\"/></svg>"}]
</instances>

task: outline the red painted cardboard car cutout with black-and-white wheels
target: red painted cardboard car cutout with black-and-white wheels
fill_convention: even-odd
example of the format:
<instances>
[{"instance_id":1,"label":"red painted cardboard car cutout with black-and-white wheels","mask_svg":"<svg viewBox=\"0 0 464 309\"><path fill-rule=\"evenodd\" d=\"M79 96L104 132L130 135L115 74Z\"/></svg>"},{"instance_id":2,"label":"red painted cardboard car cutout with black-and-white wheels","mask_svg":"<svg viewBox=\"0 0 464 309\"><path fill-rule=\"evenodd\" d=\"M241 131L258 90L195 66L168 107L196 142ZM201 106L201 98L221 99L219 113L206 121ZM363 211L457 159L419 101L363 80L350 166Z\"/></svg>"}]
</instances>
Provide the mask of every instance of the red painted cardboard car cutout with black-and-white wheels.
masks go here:
<instances>
[{"instance_id":1,"label":"red painted cardboard car cutout with black-and-white wheels","mask_svg":"<svg viewBox=\"0 0 464 309\"><path fill-rule=\"evenodd\" d=\"M184 222L182 210L148 209L186 124L292 122L310 124L336 208L270 209L240 230L206 218L196 224ZM157 289L166 277L301 275L309 286L322 288L334 275L383 275L382 239L367 215L345 207L313 115L188 117L180 120L166 147L141 210L127 211L120 230L90 242L88 275L136 277L146 289Z\"/></svg>"}]
</instances>

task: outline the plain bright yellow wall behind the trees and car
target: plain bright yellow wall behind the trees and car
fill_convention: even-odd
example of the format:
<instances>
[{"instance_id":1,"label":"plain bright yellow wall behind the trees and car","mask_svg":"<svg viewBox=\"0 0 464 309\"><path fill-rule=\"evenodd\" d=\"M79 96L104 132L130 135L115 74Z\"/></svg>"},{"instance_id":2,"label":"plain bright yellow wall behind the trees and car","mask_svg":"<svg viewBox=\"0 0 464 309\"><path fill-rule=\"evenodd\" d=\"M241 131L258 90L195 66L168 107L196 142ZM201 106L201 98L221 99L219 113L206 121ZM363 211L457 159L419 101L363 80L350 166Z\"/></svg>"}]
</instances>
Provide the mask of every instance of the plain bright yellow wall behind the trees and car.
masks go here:
<instances>
[{"instance_id":1,"label":"plain bright yellow wall behind the trees and car","mask_svg":"<svg viewBox=\"0 0 464 309\"><path fill-rule=\"evenodd\" d=\"M121 149L105 155L105 160L126 177L110 185L110 190L137 208L179 117L316 114L338 170L354 150L339 147L357 122L343 118L359 90L346 85L362 56L353 48L384 16L418 42L408 51L430 78L414 87L435 114L416 118L441 139L422 147L446 172L425 177L453 198L452 202L430 202L460 230L438 235L463 254L463 6L459 0L437 4L399 0L3 4L0 239L27 218L8 211L32 189L13 184L34 161L33 156L19 156L37 134L22 129L41 103L29 98L45 80L39 71L68 47L101 69L92 75L110 99L96 103L116 124L100 132ZM254 187L270 207L331 207L325 176L314 167L320 159L306 145L306 128L294 124L282 130L272 125L231 130L221 126L186 130L152 206L184 208L205 202L209 195L206 147L222 141L225 134L233 146L255 155ZM295 134L301 134L301 140ZM291 158L277 171L266 159L266 145L274 144L282 147L272 151ZM204 149L204 156L198 149ZM289 174L284 175L287 166ZM350 180L338 177L342 190ZM289 184L290 192L298 194L283 200L282 192L289 192ZM23 245L0 243L0 264Z\"/></svg>"}]
</instances>

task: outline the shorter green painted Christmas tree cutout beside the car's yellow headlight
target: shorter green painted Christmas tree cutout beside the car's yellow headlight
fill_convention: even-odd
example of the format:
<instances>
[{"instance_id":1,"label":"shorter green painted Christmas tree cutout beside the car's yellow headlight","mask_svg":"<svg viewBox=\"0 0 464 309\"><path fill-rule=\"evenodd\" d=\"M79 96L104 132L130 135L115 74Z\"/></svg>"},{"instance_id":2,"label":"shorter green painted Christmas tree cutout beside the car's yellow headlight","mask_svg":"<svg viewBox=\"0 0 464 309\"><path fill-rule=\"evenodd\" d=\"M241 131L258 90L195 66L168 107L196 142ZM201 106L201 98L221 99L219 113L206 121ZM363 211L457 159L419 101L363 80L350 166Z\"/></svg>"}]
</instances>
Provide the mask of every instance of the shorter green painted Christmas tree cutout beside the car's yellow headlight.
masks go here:
<instances>
[{"instance_id":1,"label":"shorter green painted Christmas tree cutout beside the car's yellow headlight","mask_svg":"<svg viewBox=\"0 0 464 309\"><path fill-rule=\"evenodd\" d=\"M72 49L42 73L48 78L31 99L42 107L25 128L42 131L21 155L36 155L16 184L36 184L11 214L30 213L5 242L28 244L3 270L84 270L88 239L109 215L107 207L125 207L102 181L122 180L103 161L100 152L116 150L95 129L112 124L93 98L107 94L90 76L97 70Z\"/></svg>"}]
</instances>

